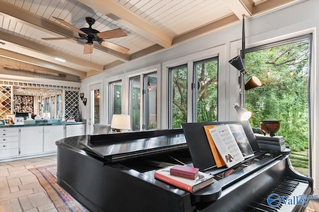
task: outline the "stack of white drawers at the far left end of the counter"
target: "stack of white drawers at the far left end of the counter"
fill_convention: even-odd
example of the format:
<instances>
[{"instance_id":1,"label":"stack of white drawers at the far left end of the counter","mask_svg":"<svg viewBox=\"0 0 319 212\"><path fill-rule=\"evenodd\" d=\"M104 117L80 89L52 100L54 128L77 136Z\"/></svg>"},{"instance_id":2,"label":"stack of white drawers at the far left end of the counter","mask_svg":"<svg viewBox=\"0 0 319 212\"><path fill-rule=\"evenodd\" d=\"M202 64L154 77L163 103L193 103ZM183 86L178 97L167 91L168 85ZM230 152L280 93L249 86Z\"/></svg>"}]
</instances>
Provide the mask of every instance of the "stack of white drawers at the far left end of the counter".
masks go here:
<instances>
[{"instance_id":1,"label":"stack of white drawers at the far left end of the counter","mask_svg":"<svg viewBox=\"0 0 319 212\"><path fill-rule=\"evenodd\" d=\"M19 155L19 128L0 128L0 158Z\"/></svg>"}]
</instances>

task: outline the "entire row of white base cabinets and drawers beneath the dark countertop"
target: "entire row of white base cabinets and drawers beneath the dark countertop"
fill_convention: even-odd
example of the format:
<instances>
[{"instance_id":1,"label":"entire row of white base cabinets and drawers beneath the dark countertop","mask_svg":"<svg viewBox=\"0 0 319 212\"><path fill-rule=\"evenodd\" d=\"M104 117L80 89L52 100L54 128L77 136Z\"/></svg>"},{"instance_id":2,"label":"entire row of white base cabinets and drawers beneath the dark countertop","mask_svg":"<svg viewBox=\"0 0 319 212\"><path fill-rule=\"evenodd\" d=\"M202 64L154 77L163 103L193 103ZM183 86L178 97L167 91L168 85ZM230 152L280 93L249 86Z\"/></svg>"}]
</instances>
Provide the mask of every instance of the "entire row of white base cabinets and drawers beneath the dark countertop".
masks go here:
<instances>
[{"instance_id":1,"label":"entire row of white base cabinets and drawers beneath the dark countertop","mask_svg":"<svg viewBox=\"0 0 319 212\"><path fill-rule=\"evenodd\" d=\"M0 128L0 160L56 152L55 141L85 135L85 124Z\"/></svg>"}]
</instances>

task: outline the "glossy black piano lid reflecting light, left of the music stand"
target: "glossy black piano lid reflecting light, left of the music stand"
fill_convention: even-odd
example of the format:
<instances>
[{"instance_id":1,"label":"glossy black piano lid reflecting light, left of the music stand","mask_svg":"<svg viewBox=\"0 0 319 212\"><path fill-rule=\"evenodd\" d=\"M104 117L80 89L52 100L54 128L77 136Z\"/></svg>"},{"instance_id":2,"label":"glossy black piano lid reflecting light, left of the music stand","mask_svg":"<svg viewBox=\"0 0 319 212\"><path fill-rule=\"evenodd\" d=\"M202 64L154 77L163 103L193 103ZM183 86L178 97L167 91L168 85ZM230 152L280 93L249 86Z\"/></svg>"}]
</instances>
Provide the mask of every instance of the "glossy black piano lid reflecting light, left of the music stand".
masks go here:
<instances>
[{"instance_id":1,"label":"glossy black piano lid reflecting light, left of the music stand","mask_svg":"<svg viewBox=\"0 0 319 212\"><path fill-rule=\"evenodd\" d=\"M94 135L79 143L85 151L111 161L157 153L187 149L184 133L179 130L154 130L129 133Z\"/></svg>"}]
</instances>

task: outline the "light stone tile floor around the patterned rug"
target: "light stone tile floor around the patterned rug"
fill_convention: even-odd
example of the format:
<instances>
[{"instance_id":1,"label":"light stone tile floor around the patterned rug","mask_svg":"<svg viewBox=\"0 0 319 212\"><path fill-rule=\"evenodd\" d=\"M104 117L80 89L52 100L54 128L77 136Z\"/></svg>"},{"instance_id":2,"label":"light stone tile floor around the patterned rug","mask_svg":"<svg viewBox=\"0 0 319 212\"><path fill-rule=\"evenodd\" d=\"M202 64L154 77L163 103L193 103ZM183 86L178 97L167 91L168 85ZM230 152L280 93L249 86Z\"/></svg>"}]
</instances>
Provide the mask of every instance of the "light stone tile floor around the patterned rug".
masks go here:
<instances>
[{"instance_id":1,"label":"light stone tile floor around the patterned rug","mask_svg":"<svg viewBox=\"0 0 319 212\"><path fill-rule=\"evenodd\" d=\"M57 212L53 202L28 169L56 164L56 155L0 163L0 212ZM319 200L306 212L319 212Z\"/></svg>"}]
</instances>

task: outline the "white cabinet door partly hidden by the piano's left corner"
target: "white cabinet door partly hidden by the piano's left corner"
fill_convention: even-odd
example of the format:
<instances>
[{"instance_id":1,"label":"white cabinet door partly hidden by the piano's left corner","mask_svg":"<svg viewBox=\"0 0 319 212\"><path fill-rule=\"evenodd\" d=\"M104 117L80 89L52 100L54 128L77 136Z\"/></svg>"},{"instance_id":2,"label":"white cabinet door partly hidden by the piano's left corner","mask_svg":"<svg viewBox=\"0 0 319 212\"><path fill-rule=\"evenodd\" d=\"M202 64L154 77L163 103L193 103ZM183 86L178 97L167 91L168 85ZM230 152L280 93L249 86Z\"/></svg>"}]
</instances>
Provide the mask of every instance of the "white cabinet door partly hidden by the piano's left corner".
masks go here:
<instances>
[{"instance_id":1,"label":"white cabinet door partly hidden by the piano's left corner","mask_svg":"<svg viewBox=\"0 0 319 212\"><path fill-rule=\"evenodd\" d=\"M56 151L55 141L64 138L64 126L45 126L44 127L44 142L43 151L51 152Z\"/></svg>"}]
</instances>

